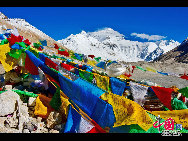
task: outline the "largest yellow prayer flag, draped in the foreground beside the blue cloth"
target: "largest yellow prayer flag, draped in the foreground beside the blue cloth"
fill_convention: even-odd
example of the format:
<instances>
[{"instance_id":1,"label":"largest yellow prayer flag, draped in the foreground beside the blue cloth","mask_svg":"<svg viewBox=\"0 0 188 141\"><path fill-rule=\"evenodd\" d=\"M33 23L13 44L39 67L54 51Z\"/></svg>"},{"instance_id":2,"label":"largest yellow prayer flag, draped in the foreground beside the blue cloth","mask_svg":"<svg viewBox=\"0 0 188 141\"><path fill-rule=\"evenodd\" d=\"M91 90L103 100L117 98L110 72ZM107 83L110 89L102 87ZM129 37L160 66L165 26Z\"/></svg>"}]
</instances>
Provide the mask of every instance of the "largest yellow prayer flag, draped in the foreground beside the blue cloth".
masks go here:
<instances>
[{"instance_id":1,"label":"largest yellow prayer flag, draped in the foreground beside the blue cloth","mask_svg":"<svg viewBox=\"0 0 188 141\"><path fill-rule=\"evenodd\" d=\"M136 102L113 93L104 93L101 99L112 105L116 117L114 127L138 124L147 131L153 126L153 121L146 111Z\"/></svg>"}]
</instances>

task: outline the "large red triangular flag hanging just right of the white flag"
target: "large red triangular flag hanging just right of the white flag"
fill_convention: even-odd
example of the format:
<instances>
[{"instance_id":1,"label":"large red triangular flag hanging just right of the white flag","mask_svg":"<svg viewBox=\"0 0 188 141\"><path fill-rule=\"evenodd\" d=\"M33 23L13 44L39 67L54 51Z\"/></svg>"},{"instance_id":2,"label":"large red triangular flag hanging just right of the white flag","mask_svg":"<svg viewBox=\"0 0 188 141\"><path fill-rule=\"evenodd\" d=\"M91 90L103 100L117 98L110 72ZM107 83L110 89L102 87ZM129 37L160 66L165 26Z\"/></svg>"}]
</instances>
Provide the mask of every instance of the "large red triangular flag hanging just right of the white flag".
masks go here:
<instances>
[{"instance_id":1,"label":"large red triangular flag hanging just right of the white flag","mask_svg":"<svg viewBox=\"0 0 188 141\"><path fill-rule=\"evenodd\" d=\"M171 106L171 94L174 91L171 88L151 86L159 100L169 109L172 110Z\"/></svg>"}]
</instances>

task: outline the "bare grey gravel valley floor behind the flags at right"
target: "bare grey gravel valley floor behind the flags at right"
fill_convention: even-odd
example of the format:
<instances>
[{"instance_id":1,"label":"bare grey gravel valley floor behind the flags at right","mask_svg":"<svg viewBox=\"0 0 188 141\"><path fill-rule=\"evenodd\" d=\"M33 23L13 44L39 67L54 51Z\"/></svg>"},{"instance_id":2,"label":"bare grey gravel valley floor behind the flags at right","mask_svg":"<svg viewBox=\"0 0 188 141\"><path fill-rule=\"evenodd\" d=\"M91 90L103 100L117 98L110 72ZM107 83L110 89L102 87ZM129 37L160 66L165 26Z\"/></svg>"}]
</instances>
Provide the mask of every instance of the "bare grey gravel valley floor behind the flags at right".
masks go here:
<instances>
[{"instance_id":1,"label":"bare grey gravel valley floor behind the flags at right","mask_svg":"<svg viewBox=\"0 0 188 141\"><path fill-rule=\"evenodd\" d=\"M129 63L126 63L129 64ZM147 62L138 62L138 63L130 63L131 65L138 65L142 68L151 67L157 71L161 72L172 72L178 75L183 75L185 70L188 70L188 64L185 63L169 63L169 62L154 62L154 63L147 63ZM187 72L186 72L187 73ZM188 86L188 80L178 78L176 76L165 76L159 73L154 73L150 71L142 71L140 69L135 69L134 73L130 77L136 81L147 80L153 83L156 83L163 87L171 87L176 86L179 89Z\"/></svg>"}]
</instances>

